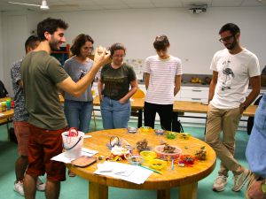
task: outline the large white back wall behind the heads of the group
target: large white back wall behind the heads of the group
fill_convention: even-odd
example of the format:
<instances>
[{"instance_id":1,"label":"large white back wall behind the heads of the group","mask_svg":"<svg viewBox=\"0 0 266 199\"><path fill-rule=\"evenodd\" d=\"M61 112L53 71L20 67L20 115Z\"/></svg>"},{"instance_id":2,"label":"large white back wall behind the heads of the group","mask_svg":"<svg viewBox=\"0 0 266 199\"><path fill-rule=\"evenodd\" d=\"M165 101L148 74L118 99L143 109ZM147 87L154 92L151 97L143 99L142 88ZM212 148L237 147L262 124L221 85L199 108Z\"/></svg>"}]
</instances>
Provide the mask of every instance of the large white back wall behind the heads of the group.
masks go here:
<instances>
[{"instance_id":1,"label":"large white back wall behind the heads of the group","mask_svg":"<svg viewBox=\"0 0 266 199\"><path fill-rule=\"evenodd\" d=\"M95 47L125 44L127 58L155 54L155 36L166 34L171 42L169 53L181 58L183 72L199 74L212 74L211 59L224 48L218 32L232 22L240 27L240 44L259 57L261 67L266 65L266 7L207 9L199 15L187 9L61 12L44 14L43 19L49 16L69 24L66 43L71 44L78 34L90 34Z\"/></svg>"}]
</instances>

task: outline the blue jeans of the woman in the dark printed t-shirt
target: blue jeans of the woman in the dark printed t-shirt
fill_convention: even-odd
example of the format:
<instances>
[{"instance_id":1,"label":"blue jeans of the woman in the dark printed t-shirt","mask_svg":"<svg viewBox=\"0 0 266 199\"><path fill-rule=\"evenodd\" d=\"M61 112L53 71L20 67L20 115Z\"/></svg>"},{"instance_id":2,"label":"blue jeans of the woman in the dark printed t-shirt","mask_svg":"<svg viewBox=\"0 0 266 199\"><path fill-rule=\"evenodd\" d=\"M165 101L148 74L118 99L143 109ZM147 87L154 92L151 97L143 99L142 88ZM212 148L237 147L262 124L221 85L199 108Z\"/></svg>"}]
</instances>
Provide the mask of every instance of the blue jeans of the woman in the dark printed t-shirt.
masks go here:
<instances>
[{"instance_id":1,"label":"blue jeans of the woman in the dark printed t-shirt","mask_svg":"<svg viewBox=\"0 0 266 199\"><path fill-rule=\"evenodd\" d=\"M119 103L118 100L104 96L104 101L100 101L100 107L105 130L128 127L131 114L130 100Z\"/></svg>"}]
</instances>

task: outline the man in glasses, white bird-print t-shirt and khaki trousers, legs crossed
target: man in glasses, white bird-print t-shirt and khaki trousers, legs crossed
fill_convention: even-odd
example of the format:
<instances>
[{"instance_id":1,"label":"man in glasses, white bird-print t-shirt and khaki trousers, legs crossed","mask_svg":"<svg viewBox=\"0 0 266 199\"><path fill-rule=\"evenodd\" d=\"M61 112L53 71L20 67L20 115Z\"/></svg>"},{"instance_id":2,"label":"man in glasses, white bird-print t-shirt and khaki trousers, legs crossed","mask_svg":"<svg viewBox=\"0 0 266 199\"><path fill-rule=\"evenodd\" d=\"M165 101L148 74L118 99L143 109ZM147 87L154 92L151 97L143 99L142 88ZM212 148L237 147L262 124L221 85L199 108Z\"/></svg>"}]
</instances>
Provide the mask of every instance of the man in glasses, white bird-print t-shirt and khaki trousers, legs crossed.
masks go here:
<instances>
[{"instance_id":1,"label":"man in glasses, white bird-print t-shirt and khaki trousers, legs crossed","mask_svg":"<svg viewBox=\"0 0 266 199\"><path fill-rule=\"evenodd\" d=\"M210 69L213 79L209 87L209 104L207 111L207 142L215 149L221 160L214 191L223 191L229 176L233 172L233 191L239 191L248 180L250 171L234 159L235 134L239 121L261 89L260 65L254 53L239 44L240 29L229 23L224 25L219 34L220 42L226 47L215 53ZM249 80L252 91L246 97ZM223 142L219 140L223 131Z\"/></svg>"}]
</instances>

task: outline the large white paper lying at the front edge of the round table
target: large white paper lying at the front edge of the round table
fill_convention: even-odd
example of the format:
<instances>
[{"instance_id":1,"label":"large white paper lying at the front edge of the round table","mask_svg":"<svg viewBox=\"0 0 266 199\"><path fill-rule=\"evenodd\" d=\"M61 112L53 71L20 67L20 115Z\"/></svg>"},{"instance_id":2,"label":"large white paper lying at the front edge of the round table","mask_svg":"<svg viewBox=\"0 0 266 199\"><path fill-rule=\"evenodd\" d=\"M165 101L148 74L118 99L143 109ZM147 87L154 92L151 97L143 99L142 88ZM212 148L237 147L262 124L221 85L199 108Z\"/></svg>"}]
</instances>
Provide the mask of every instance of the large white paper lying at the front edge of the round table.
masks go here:
<instances>
[{"instance_id":1,"label":"large white paper lying at the front edge of the round table","mask_svg":"<svg viewBox=\"0 0 266 199\"><path fill-rule=\"evenodd\" d=\"M120 167L121 169L125 169L126 171L133 171L133 172L131 172L129 176L122 176L114 174L113 172L98 172L98 170L94 173L98 175L112 176L114 178L126 180L136 184L143 184L145 180L149 178L149 176L153 173L153 171L134 165L126 165L126 164L107 162L107 161L103 165L109 168L116 168L116 169Z\"/></svg>"}]
</instances>

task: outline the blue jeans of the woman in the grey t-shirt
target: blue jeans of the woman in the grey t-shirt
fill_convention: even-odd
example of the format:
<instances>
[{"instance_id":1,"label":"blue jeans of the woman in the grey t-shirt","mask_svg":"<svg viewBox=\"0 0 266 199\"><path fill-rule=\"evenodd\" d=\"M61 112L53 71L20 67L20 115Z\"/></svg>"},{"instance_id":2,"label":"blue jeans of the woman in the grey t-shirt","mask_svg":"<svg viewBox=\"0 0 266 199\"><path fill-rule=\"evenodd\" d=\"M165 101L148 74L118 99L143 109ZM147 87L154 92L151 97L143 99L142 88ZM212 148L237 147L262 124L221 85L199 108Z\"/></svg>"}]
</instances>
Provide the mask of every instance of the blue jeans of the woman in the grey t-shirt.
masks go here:
<instances>
[{"instance_id":1,"label":"blue jeans of the woman in the grey t-shirt","mask_svg":"<svg viewBox=\"0 0 266 199\"><path fill-rule=\"evenodd\" d=\"M64 112L66 115L68 129L71 127L75 127L78 131L87 134L90 127L92 109L92 101L79 102L73 100L65 100Z\"/></svg>"}]
</instances>

